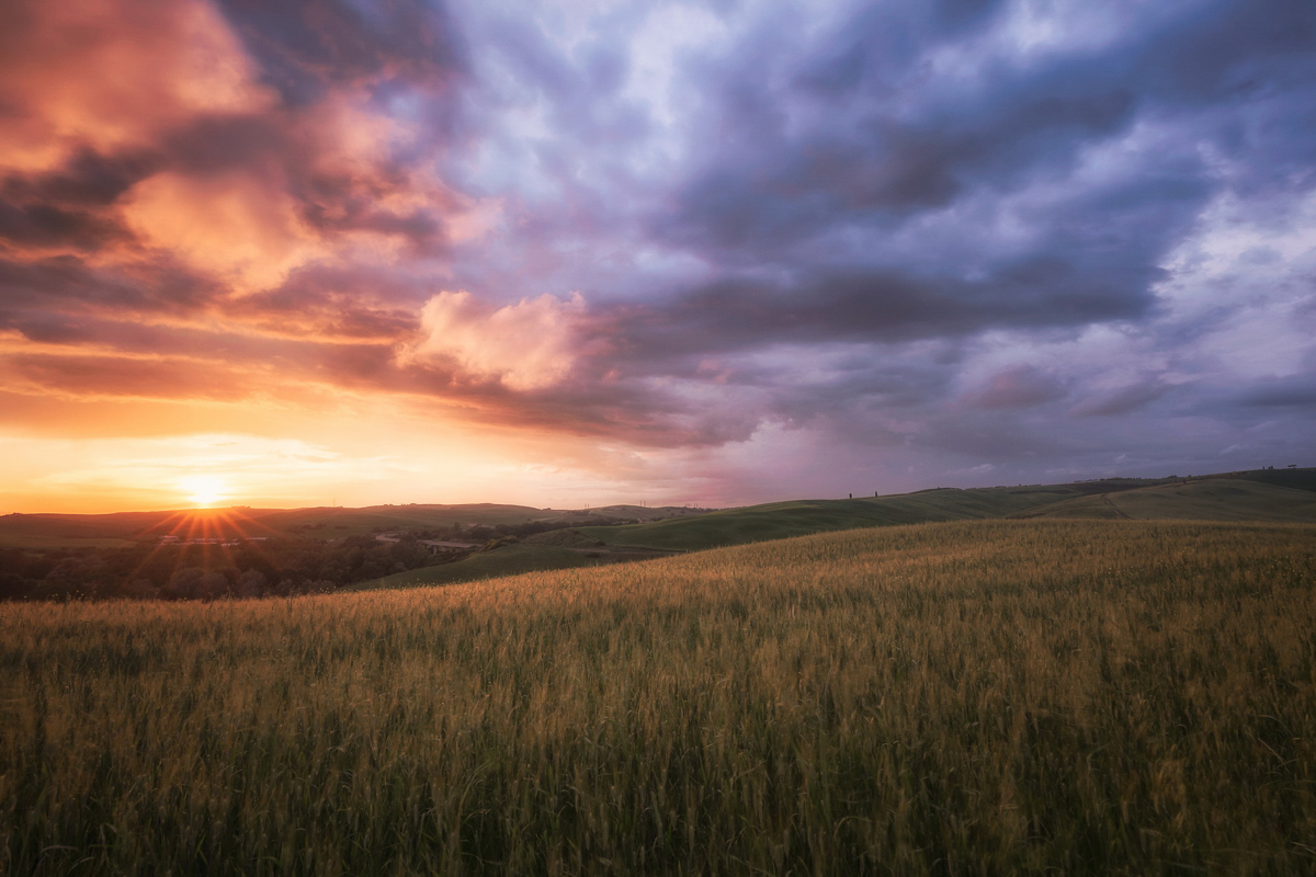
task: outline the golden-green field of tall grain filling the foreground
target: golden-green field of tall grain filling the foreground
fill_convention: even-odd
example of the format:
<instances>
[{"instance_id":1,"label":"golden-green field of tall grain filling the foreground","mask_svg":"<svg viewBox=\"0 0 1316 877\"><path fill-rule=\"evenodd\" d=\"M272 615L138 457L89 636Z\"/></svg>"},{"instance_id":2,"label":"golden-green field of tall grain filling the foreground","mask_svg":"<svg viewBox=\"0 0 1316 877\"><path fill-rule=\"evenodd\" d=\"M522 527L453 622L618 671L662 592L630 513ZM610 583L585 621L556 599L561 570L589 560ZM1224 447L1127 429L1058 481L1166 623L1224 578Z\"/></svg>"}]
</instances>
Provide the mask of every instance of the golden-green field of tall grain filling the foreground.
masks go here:
<instances>
[{"instance_id":1,"label":"golden-green field of tall grain filling the foreground","mask_svg":"<svg viewBox=\"0 0 1316 877\"><path fill-rule=\"evenodd\" d=\"M1316 527L0 605L5 874L1309 874Z\"/></svg>"}]
</instances>

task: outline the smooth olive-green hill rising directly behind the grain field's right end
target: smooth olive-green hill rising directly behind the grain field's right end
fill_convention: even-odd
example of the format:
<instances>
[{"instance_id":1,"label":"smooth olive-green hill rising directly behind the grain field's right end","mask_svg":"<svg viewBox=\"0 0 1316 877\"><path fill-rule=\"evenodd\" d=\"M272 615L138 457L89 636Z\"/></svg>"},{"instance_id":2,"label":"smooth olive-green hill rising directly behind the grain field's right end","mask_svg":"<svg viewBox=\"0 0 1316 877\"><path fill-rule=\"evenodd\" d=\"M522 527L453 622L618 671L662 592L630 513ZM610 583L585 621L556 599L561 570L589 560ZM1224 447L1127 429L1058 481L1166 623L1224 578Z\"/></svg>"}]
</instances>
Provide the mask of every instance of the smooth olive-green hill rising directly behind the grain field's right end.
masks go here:
<instances>
[{"instance_id":1,"label":"smooth olive-green hill rising directly behind the grain field's right end","mask_svg":"<svg viewBox=\"0 0 1316 877\"><path fill-rule=\"evenodd\" d=\"M1013 517L1309 522L1316 521L1316 493L1241 479L1207 479L1075 497Z\"/></svg>"}]
</instances>

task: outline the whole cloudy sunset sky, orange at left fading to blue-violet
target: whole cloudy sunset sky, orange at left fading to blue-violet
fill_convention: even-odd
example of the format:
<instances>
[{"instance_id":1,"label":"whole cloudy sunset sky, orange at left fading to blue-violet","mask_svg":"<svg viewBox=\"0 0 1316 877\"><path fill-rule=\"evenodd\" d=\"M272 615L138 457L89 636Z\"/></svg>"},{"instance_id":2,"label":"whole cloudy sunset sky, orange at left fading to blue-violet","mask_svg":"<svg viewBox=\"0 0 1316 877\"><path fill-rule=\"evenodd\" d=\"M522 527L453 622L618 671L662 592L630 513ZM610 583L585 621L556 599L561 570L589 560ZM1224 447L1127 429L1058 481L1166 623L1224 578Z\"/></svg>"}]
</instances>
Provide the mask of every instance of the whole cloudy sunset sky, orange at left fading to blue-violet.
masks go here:
<instances>
[{"instance_id":1,"label":"whole cloudy sunset sky, orange at left fading to blue-violet","mask_svg":"<svg viewBox=\"0 0 1316 877\"><path fill-rule=\"evenodd\" d=\"M1311 465L1309 0L8 0L0 513Z\"/></svg>"}]
</instances>

